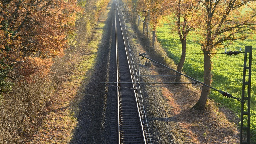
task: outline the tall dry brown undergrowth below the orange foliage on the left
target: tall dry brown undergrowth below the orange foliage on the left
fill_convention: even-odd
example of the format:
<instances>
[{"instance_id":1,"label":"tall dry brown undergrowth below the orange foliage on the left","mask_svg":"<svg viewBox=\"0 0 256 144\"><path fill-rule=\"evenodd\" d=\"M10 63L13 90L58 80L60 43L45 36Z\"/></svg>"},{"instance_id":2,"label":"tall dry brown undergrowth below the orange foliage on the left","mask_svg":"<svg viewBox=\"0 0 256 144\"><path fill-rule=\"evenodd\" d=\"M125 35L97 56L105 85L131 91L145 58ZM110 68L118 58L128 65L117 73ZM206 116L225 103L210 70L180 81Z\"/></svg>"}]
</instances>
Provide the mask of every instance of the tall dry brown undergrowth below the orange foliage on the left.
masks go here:
<instances>
[{"instance_id":1,"label":"tall dry brown undergrowth below the orange foliage on the left","mask_svg":"<svg viewBox=\"0 0 256 144\"><path fill-rule=\"evenodd\" d=\"M71 48L66 50L71 51ZM72 57L76 54L72 53ZM12 93L3 94L0 105L0 143L28 142L49 112L47 105L54 102L54 93L67 81L74 59L70 54L54 58L47 75L40 69L29 76L30 81L12 81Z\"/></svg>"}]
</instances>

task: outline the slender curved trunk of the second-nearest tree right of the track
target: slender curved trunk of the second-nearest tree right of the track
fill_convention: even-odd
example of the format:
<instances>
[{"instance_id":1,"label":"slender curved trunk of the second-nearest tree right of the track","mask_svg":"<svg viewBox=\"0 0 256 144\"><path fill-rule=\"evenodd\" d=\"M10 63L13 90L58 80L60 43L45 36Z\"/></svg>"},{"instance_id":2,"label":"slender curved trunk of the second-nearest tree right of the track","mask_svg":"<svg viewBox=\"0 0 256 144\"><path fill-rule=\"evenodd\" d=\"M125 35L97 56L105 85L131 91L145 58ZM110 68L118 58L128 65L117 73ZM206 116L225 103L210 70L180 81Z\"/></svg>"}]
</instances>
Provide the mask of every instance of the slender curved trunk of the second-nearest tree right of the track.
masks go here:
<instances>
[{"instance_id":1,"label":"slender curved trunk of the second-nearest tree right of the track","mask_svg":"<svg viewBox=\"0 0 256 144\"><path fill-rule=\"evenodd\" d=\"M186 43L187 43L186 38L181 41L181 44L182 44L182 54L181 54L181 57L180 57L180 62L178 63L178 66L177 66L177 71L180 72L180 73L181 73L183 64L185 62L186 47L187 47ZM176 75L180 75L180 74L176 73ZM180 76L176 76L175 82L180 82Z\"/></svg>"}]
</instances>

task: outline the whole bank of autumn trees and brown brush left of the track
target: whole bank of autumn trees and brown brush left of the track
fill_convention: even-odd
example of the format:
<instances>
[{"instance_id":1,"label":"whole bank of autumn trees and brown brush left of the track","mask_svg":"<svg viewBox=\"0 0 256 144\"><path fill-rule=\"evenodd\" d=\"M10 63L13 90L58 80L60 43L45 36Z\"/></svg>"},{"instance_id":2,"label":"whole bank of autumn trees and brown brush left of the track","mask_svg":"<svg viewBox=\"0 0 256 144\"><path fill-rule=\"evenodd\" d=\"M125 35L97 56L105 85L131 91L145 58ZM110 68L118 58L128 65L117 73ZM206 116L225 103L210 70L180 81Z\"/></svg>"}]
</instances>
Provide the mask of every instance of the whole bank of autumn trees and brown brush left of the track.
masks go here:
<instances>
[{"instance_id":1,"label":"whole bank of autumn trees and brown brush left of the track","mask_svg":"<svg viewBox=\"0 0 256 144\"><path fill-rule=\"evenodd\" d=\"M63 81L69 56L79 50L75 36L90 35L108 1L0 0L0 141L30 140L57 88L56 77ZM88 21L88 32L75 33L80 17Z\"/></svg>"}]
</instances>

